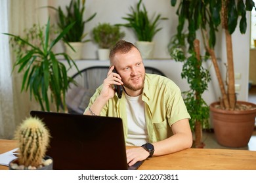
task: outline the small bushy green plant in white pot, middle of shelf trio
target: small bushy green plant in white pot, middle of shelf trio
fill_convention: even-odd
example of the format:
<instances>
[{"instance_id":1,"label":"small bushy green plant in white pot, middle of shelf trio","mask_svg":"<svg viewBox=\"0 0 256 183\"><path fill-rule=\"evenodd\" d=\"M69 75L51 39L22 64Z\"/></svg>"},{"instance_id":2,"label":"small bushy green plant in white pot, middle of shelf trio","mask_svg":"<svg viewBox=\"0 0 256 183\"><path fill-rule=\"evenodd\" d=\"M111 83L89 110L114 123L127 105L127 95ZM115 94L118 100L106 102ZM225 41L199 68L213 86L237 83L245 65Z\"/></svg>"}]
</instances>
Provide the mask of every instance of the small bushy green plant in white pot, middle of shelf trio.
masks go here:
<instances>
[{"instance_id":1,"label":"small bushy green plant in white pot, middle of shelf trio","mask_svg":"<svg viewBox=\"0 0 256 183\"><path fill-rule=\"evenodd\" d=\"M93 41L98 44L98 58L108 59L110 48L119 40L125 37L125 33L120 31L116 25L109 23L98 24L93 28Z\"/></svg>"}]
</instances>

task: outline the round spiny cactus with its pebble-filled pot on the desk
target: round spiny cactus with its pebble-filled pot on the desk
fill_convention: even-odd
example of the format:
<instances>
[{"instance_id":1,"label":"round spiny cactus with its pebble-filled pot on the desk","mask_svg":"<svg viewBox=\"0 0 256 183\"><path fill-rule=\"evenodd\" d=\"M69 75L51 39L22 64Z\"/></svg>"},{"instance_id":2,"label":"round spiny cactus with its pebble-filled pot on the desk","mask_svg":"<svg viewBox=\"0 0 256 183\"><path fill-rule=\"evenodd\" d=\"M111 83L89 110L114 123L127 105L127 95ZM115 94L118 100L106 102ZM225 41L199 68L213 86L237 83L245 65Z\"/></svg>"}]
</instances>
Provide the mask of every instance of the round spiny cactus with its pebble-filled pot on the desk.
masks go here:
<instances>
[{"instance_id":1,"label":"round spiny cactus with its pebble-filled pot on the desk","mask_svg":"<svg viewBox=\"0 0 256 183\"><path fill-rule=\"evenodd\" d=\"M50 136L49 130L39 118L24 120L14 135L18 141L18 158L9 163L9 169L53 169L53 159L45 156Z\"/></svg>"}]
</instances>

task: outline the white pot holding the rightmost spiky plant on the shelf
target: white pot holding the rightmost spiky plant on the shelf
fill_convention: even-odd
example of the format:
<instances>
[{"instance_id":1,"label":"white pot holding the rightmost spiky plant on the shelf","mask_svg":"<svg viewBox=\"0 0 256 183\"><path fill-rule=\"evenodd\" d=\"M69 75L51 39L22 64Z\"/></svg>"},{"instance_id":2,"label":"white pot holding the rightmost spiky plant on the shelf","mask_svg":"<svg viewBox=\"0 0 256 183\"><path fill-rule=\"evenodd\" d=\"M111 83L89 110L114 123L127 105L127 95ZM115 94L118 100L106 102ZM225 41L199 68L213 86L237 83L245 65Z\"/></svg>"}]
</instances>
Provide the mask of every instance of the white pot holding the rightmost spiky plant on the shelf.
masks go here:
<instances>
[{"instance_id":1,"label":"white pot holding the rightmost spiky plant on the shelf","mask_svg":"<svg viewBox=\"0 0 256 183\"><path fill-rule=\"evenodd\" d=\"M154 42L137 41L135 43L143 59L154 58Z\"/></svg>"}]
</instances>

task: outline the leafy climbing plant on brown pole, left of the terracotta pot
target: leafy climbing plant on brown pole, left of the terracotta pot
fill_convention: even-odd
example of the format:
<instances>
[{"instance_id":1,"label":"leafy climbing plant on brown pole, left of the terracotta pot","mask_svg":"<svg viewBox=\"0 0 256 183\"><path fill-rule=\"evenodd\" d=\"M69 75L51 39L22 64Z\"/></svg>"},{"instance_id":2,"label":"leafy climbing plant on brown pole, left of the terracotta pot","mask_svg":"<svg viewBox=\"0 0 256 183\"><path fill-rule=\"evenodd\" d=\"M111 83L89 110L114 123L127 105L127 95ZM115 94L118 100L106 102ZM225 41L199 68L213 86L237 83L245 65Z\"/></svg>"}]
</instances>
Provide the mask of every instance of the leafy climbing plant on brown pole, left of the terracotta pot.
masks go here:
<instances>
[{"instance_id":1,"label":"leafy climbing plant on brown pole, left of the terracotta pot","mask_svg":"<svg viewBox=\"0 0 256 183\"><path fill-rule=\"evenodd\" d=\"M185 52L175 45L175 39L170 50L171 57L175 61L184 63L182 66L181 77L186 78L190 90L182 92L184 94L184 103L191 116L190 127L194 131L194 148L203 148L202 142L203 127L209 128L209 106L204 101L202 95L208 88L211 80L209 71L202 66L206 58L200 56L200 44L198 39L194 41L194 50L190 50L190 56L186 58ZM196 110L195 110L196 108Z\"/></svg>"}]
</instances>

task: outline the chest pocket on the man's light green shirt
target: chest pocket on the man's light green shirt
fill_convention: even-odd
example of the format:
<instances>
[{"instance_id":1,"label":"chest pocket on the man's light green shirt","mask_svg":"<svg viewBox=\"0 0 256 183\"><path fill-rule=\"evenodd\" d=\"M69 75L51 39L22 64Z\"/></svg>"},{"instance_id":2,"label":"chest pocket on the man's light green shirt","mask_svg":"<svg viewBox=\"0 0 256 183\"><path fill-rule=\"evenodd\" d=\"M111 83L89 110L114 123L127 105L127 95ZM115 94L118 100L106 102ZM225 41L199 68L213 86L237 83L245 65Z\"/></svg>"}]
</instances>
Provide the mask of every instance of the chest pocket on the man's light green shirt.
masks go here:
<instances>
[{"instance_id":1,"label":"chest pocket on the man's light green shirt","mask_svg":"<svg viewBox=\"0 0 256 183\"><path fill-rule=\"evenodd\" d=\"M167 120L164 120L163 122L153 122L153 127L157 141L162 141L173 135Z\"/></svg>"}]
</instances>

